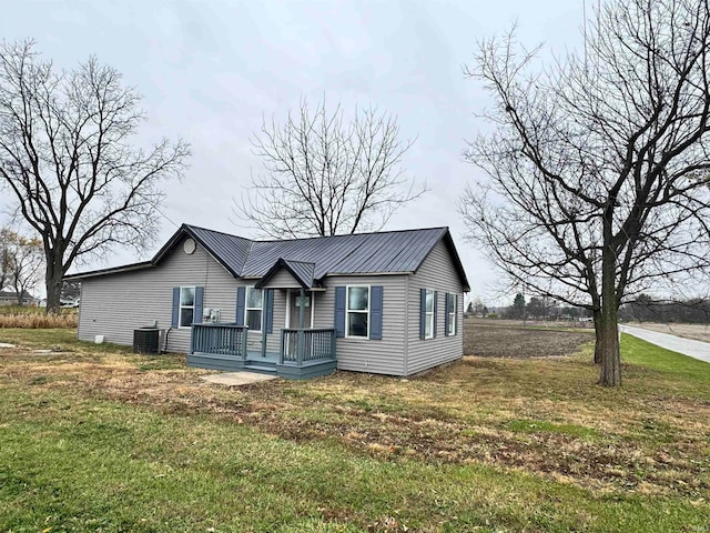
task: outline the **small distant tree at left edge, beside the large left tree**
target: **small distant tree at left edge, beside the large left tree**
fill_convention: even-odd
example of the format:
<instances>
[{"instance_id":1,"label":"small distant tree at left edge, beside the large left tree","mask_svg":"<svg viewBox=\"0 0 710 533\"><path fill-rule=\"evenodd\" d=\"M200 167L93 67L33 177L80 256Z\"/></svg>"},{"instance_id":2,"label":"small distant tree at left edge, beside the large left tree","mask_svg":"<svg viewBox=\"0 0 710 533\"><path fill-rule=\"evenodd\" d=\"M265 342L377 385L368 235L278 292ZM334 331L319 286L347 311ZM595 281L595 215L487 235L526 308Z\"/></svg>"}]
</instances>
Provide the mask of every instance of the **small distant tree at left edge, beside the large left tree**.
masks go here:
<instances>
[{"instance_id":1,"label":"small distant tree at left edge, beside the large left tree","mask_svg":"<svg viewBox=\"0 0 710 533\"><path fill-rule=\"evenodd\" d=\"M42 241L24 237L9 229L0 230L6 235L8 258L8 282L14 289L18 305L22 305L30 290L40 281L44 254Z\"/></svg>"}]
</instances>

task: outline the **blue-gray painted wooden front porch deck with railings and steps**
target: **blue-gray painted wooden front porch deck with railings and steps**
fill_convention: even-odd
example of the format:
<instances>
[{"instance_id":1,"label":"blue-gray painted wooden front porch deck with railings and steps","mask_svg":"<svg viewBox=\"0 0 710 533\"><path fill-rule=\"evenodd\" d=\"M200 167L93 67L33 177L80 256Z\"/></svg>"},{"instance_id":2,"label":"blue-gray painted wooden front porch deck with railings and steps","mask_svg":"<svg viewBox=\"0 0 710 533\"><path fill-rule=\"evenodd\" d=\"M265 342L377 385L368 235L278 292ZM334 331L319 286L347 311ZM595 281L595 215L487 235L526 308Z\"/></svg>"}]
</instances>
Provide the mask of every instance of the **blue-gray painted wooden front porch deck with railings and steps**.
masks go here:
<instances>
[{"instance_id":1,"label":"blue-gray painted wooden front porch deck with railings and steps","mask_svg":"<svg viewBox=\"0 0 710 533\"><path fill-rule=\"evenodd\" d=\"M335 371L334 329L282 329L281 345L275 353L267 351L266 342L262 342L261 351L250 350L248 336L245 325L193 324L187 365L263 372L291 380L305 380Z\"/></svg>"}]
</instances>

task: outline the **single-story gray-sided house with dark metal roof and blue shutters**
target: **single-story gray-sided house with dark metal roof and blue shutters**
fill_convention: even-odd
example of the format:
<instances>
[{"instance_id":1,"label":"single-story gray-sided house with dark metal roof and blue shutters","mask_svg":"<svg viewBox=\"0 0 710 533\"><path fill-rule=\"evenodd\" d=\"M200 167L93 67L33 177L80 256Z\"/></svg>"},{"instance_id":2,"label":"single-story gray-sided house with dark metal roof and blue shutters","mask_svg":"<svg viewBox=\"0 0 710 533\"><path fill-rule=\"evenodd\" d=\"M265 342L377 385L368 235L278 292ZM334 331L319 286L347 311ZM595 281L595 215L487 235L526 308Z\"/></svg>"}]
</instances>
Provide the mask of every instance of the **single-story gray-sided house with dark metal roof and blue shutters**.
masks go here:
<instances>
[{"instance_id":1,"label":"single-story gray-sided house with dark metal roof and blue shutters","mask_svg":"<svg viewBox=\"0 0 710 533\"><path fill-rule=\"evenodd\" d=\"M199 368L405 376L463 356L448 228L253 241L183 224L150 261L65 279L81 281L79 339L130 345L153 326Z\"/></svg>"}]
</instances>

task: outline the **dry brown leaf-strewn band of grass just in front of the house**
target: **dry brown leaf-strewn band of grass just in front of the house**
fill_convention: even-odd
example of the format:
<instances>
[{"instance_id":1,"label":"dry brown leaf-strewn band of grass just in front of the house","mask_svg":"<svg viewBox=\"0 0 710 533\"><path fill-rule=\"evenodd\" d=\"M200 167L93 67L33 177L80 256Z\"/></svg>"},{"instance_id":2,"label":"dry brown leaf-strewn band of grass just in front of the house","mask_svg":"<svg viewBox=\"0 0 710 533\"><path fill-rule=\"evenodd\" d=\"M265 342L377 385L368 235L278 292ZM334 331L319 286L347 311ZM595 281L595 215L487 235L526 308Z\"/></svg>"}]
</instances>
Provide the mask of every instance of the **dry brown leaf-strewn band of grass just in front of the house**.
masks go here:
<instances>
[{"instance_id":1,"label":"dry brown leaf-strewn band of grass just in front of the house","mask_svg":"<svg viewBox=\"0 0 710 533\"><path fill-rule=\"evenodd\" d=\"M708 383L627 364L623 389L604 390L589 350L535 361L465 358L409 380L338 372L239 389L202 382L205 371L180 356L2 353L0 383L38 393L203 413L377 457L513 467L600 494L707 499L710 490Z\"/></svg>"}]
</instances>

